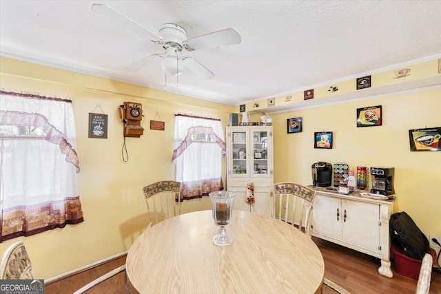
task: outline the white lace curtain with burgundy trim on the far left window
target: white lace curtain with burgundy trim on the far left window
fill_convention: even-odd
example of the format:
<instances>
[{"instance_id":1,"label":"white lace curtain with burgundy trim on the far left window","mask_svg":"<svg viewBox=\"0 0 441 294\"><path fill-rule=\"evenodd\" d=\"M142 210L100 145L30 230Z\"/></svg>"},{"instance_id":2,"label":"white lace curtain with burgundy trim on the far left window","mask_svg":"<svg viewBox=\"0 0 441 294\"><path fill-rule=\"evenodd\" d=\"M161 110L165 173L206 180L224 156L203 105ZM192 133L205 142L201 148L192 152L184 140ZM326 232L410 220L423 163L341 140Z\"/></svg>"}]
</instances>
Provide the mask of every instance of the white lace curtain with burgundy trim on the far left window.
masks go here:
<instances>
[{"instance_id":1,"label":"white lace curtain with burgundy trim on the far left window","mask_svg":"<svg viewBox=\"0 0 441 294\"><path fill-rule=\"evenodd\" d=\"M0 92L1 239L83 221L72 101Z\"/></svg>"}]
</instances>

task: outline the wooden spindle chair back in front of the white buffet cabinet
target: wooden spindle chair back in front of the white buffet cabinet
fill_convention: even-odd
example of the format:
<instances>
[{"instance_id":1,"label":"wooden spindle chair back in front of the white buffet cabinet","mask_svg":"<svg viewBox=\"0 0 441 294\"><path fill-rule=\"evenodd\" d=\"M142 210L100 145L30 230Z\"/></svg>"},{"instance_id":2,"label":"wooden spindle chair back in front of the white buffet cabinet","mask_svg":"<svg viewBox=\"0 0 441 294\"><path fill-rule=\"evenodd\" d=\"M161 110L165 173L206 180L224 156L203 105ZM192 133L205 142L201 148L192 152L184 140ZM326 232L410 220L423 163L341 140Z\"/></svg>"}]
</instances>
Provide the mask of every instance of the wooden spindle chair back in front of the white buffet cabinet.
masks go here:
<instances>
[{"instance_id":1,"label":"wooden spindle chair back in front of the white buffet cabinet","mask_svg":"<svg viewBox=\"0 0 441 294\"><path fill-rule=\"evenodd\" d=\"M309 233L309 220L316 191L294 182L278 182L274 184L273 215L278 220L283 220Z\"/></svg>"}]
</instances>

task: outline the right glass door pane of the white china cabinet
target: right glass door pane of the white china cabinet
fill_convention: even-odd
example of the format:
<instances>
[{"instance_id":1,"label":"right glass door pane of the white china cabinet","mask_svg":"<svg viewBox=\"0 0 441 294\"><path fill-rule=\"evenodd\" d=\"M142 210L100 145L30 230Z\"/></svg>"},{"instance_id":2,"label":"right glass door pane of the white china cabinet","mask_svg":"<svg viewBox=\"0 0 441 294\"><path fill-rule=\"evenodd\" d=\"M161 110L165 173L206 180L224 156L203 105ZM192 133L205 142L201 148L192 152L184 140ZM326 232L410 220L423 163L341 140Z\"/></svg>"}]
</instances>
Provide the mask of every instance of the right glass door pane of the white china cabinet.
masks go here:
<instances>
[{"instance_id":1,"label":"right glass door pane of the white china cabinet","mask_svg":"<svg viewBox=\"0 0 441 294\"><path fill-rule=\"evenodd\" d=\"M253 174L268 174L268 132L252 132Z\"/></svg>"}]
</instances>

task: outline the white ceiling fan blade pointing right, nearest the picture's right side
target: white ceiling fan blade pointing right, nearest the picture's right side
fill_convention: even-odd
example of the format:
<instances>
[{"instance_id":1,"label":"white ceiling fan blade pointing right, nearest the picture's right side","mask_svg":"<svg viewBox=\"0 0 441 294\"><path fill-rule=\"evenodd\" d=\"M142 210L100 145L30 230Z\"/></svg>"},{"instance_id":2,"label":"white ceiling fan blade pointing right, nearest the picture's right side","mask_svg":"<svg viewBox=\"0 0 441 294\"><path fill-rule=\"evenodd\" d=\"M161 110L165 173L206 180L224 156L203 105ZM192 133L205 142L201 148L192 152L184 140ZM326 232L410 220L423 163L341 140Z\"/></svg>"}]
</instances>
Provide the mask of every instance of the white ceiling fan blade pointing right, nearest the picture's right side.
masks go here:
<instances>
[{"instance_id":1,"label":"white ceiling fan blade pointing right, nearest the picture's right side","mask_svg":"<svg viewBox=\"0 0 441 294\"><path fill-rule=\"evenodd\" d=\"M233 28L196 36L184 42L184 48L188 51L217 48L220 46L239 44L242 37Z\"/></svg>"}]
</instances>

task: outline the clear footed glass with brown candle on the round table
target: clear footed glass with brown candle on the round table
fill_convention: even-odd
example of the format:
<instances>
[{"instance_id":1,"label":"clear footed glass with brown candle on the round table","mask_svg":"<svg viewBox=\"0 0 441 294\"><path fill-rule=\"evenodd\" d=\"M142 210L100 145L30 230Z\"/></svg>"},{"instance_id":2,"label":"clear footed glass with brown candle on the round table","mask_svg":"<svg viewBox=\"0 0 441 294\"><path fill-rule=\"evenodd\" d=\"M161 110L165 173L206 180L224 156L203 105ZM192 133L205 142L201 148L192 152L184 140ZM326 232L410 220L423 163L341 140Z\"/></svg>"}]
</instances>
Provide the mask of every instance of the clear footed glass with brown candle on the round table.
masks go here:
<instances>
[{"instance_id":1,"label":"clear footed glass with brown candle on the round table","mask_svg":"<svg viewBox=\"0 0 441 294\"><path fill-rule=\"evenodd\" d=\"M213 237L213 243L219 246L232 244L233 238L226 233L225 226L232 219L233 200L235 193L229 191L214 191L209 193L212 200L214 223L219 227L219 233Z\"/></svg>"}]
</instances>

